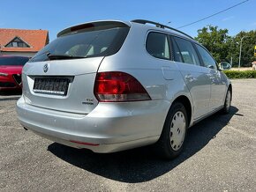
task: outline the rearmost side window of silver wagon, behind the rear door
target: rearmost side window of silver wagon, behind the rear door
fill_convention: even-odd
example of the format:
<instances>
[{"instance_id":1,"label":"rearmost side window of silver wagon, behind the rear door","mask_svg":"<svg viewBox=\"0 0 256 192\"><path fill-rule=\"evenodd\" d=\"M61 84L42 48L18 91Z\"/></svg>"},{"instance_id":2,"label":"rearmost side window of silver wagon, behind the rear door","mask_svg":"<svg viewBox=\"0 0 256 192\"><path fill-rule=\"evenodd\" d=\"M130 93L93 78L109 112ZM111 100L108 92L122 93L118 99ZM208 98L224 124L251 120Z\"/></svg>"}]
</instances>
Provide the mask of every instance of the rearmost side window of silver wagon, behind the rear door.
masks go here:
<instances>
[{"instance_id":1,"label":"rearmost side window of silver wagon, behind the rear door","mask_svg":"<svg viewBox=\"0 0 256 192\"><path fill-rule=\"evenodd\" d=\"M147 35L146 49L150 55L156 58L170 58L168 36L164 33L149 33Z\"/></svg>"}]
</instances>

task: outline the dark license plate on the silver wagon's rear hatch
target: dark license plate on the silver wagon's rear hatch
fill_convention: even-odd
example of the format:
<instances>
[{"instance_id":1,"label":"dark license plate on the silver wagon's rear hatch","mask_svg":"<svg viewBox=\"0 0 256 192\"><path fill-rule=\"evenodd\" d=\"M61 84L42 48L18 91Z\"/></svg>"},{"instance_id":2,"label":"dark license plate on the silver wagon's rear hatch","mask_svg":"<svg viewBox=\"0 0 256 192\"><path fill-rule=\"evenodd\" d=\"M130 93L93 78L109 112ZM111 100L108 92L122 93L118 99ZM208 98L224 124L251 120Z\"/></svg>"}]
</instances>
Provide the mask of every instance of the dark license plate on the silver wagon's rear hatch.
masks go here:
<instances>
[{"instance_id":1,"label":"dark license plate on the silver wagon's rear hatch","mask_svg":"<svg viewBox=\"0 0 256 192\"><path fill-rule=\"evenodd\" d=\"M34 78L34 92L66 95L70 80L68 78Z\"/></svg>"}]
</instances>

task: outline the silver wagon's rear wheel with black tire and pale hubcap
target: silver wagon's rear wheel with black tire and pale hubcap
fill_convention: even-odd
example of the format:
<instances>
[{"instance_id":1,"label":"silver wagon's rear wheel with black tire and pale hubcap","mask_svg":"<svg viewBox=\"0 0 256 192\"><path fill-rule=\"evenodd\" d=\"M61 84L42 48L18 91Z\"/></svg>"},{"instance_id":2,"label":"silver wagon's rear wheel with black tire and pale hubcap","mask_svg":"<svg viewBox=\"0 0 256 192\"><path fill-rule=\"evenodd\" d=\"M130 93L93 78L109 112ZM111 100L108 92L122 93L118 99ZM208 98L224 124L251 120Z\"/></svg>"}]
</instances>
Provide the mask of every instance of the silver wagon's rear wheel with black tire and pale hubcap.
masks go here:
<instances>
[{"instance_id":1,"label":"silver wagon's rear wheel with black tire and pale hubcap","mask_svg":"<svg viewBox=\"0 0 256 192\"><path fill-rule=\"evenodd\" d=\"M163 159L176 158L184 148L188 127L188 118L185 107L175 102L169 109L161 137L155 144L156 152Z\"/></svg>"}]
</instances>

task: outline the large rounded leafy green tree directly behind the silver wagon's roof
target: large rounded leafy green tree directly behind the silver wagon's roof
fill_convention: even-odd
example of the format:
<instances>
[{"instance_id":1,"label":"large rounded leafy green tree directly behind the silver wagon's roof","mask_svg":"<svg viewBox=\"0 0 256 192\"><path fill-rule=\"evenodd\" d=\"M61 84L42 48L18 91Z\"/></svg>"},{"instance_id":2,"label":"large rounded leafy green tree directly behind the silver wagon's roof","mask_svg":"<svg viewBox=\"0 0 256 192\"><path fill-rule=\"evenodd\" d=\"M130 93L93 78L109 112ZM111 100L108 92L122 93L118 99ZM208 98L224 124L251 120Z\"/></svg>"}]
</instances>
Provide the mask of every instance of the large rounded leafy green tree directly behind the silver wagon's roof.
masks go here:
<instances>
[{"instance_id":1,"label":"large rounded leafy green tree directly behind the silver wagon's roof","mask_svg":"<svg viewBox=\"0 0 256 192\"><path fill-rule=\"evenodd\" d=\"M218 26L205 26L198 30L198 36L195 40L206 47L215 60L230 62L229 52L232 38L229 36L228 29L218 29Z\"/></svg>"}]
</instances>

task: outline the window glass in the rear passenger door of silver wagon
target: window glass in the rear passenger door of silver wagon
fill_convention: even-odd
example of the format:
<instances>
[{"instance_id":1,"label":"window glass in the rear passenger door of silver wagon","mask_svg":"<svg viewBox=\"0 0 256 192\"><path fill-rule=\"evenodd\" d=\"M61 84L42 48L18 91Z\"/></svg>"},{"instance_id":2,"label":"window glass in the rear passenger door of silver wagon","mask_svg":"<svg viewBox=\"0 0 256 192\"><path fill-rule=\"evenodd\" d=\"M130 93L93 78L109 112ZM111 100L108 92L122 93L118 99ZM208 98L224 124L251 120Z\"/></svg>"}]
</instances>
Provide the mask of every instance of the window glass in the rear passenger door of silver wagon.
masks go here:
<instances>
[{"instance_id":1,"label":"window glass in the rear passenger door of silver wagon","mask_svg":"<svg viewBox=\"0 0 256 192\"><path fill-rule=\"evenodd\" d=\"M174 43L177 43L177 47L179 48L179 50L175 50L175 52L180 52L180 54L176 54L177 58L181 55L184 63L200 65L199 57L192 46L192 42L178 37L173 37L173 39L175 41ZM177 62L180 62L179 60L180 59L178 59Z\"/></svg>"}]
</instances>

